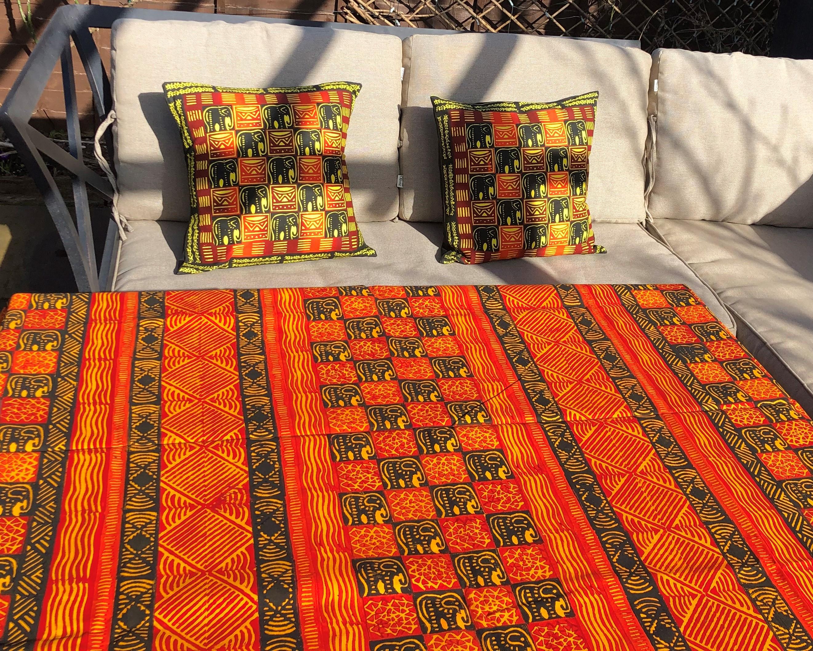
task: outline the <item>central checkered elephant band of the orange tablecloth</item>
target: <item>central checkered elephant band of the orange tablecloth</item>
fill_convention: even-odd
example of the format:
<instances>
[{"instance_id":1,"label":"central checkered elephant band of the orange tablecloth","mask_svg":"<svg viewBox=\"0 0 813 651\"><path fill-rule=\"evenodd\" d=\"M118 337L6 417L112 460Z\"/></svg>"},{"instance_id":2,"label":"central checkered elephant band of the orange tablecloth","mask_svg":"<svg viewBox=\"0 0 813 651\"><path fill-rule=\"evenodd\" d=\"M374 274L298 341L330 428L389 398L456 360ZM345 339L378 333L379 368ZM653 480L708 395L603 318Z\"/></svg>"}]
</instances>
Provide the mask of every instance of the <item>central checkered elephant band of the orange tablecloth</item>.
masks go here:
<instances>
[{"instance_id":1,"label":"central checkered elephant band of the orange tablecloth","mask_svg":"<svg viewBox=\"0 0 813 651\"><path fill-rule=\"evenodd\" d=\"M578 636L438 289L302 293L370 649L533 649L553 621Z\"/></svg>"}]
</instances>

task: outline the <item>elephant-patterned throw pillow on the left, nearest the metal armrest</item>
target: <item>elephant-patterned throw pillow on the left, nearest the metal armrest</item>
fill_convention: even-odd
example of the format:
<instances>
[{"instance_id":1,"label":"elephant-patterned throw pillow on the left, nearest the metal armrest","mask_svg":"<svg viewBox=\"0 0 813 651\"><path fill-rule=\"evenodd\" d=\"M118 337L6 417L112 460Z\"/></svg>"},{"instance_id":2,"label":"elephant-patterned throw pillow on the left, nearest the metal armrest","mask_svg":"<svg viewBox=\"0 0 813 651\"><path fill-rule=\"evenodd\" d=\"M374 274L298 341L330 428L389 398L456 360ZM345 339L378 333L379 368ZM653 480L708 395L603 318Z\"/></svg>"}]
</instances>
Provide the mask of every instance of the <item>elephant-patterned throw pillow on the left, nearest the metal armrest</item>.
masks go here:
<instances>
[{"instance_id":1,"label":"elephant-patterned throw pillow on the left, nearest the metal armrest","mask_svg":"<svg viewBox=\"0 0 813 651\"><path fill-rule=\"evenodd\" d=\"M345 144L361 85L163 85L191 197L178 273L375 255L353 213Z\"/></svg>"}]
</instances>

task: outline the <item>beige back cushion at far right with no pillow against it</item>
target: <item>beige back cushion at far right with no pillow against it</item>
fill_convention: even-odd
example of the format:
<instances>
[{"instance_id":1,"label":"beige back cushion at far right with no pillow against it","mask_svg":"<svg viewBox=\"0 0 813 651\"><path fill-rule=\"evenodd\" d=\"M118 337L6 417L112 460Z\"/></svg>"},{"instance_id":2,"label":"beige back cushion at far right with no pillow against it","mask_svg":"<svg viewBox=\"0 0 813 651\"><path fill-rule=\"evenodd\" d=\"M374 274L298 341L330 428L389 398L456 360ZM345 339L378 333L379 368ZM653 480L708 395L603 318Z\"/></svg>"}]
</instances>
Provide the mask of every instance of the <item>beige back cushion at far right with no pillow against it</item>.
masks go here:
<instances>
[{"instance_id":1,"label":"beige back cushion at far right with no pillow against it","mask_svg":"<svg viewBox=\"0 0 813 651\"><path fill-rule=\"evenodd\" d=\"M655 50L654 217L813 227L813 61Z\"/></svg>"}]
</instances>

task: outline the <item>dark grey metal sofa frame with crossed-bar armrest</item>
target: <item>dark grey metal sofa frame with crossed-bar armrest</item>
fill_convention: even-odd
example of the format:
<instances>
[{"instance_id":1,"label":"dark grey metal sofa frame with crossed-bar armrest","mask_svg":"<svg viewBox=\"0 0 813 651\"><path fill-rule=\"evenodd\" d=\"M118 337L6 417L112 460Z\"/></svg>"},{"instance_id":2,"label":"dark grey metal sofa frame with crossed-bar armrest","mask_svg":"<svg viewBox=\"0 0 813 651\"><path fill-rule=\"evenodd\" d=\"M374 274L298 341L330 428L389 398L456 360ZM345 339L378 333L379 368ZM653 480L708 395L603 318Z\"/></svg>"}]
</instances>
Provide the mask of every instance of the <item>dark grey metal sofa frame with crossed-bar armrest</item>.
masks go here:
<instances>
[{"instance_id":1,"label":"dark grey metal sofa frame with crossed-bar armrest","mask_svg":"<svg viewBox=\"0 0 813 651\"><path fill-rule=\"evenodd\" d=\"M81 158L80 115L76 104L76 83L73 75L72 46L80 56L90 89L93 93L93 109L98 118L104 119L113 107L110 79L102 65L91 28L110 29L115 20L135 18L141 20L189 20L244 23L260 20L267 23L296 24L307 27L355 29L365 32L389 33L406 38L415 33L461 33L427 28L401 28L386 25L362 25L352 23L311 22L258 18L252 15L203 14L186 11L161 11L129 7L99 7L94 5L67 5L60 7L51 18L37 46L15 80L6 101L0 106L0 127L7 133L11 144L32 176L37 189L45 197L46 207L54 220L59 237L62 238L67 258L71 263L76 286L80 292L110 290L115 280L121 241L113 219L107 224L102 259L96 256L92 217L88 203L88 184L105 197L113 198L111 183L96 171L85 166ZM611 39L585 39L611 42L615 45L640 47L639 41ZM49 138L37 131L30 123L37 102L54 72L56 64L62 64L63 93L67 123L68 150L63 150ZM107 151L113 152L111 133L106 136ZM63 167L73 175L72 190L76 219L59 192L54 176L46 166L45 158ZM101 225L100 225L101 226Z\"/></svg>"}]
</instances>

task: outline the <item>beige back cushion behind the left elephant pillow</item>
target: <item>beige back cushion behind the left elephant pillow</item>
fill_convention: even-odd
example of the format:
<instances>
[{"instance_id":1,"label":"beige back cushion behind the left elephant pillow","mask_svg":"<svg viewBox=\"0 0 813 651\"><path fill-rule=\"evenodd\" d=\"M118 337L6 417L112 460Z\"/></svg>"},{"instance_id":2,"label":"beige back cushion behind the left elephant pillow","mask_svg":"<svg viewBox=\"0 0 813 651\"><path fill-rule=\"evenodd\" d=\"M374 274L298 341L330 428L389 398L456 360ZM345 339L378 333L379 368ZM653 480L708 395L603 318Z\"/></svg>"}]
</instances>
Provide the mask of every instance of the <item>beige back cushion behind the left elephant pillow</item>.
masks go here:
<instances>
[{"instance_id":1,"label":"beige back cushion behind the left elephant pillow","mask_svg":"<svg viewBox=\"0 0 813 651\"><path fill-rule=\"evenodd\" d=\"M116 20L111 38L119 210L128 219L189 219L186 165L164 81L235 88L359 82L346 146L356 219L398 215L398 37L261 22Z\"/></svg>"}]
</instances>

